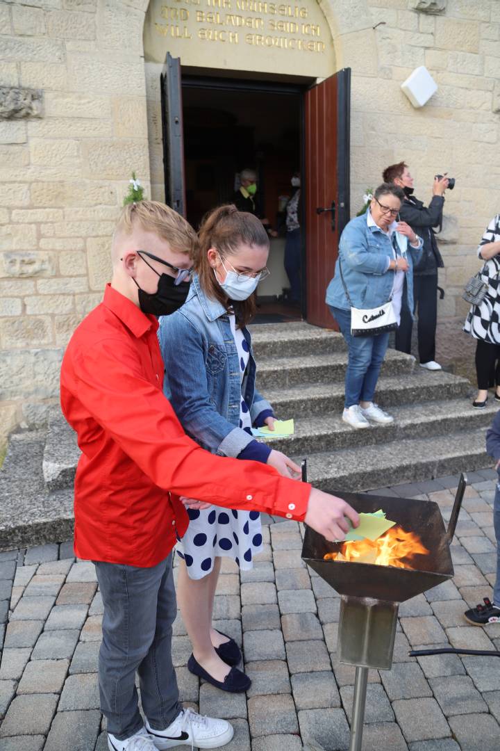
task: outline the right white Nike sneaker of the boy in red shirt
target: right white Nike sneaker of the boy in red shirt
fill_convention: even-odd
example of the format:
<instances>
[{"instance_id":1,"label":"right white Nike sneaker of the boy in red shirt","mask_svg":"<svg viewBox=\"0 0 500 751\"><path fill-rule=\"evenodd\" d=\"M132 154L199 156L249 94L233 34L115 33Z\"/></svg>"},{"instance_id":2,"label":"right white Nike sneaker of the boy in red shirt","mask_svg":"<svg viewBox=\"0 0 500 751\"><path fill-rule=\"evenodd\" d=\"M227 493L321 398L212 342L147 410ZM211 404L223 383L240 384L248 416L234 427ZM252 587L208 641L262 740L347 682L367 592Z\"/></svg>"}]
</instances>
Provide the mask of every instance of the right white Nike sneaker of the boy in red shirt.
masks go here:
<instances>
[{"instance_id":1,"label":"right white Nike sneaker of the boy in red shirt","mask_svg":"<svg viewBox=\"0 0 500 751\"><path fill-rule=\"evenodd\" d=\"M225 746L235 731L225 719L214 719L196 714L192 709L182 710L165 730L153 730L146 719L148 733L154 738L155 746L171 749L174 746L196 746L199 749L216 749Z\"/></svg>"}]
</instances>

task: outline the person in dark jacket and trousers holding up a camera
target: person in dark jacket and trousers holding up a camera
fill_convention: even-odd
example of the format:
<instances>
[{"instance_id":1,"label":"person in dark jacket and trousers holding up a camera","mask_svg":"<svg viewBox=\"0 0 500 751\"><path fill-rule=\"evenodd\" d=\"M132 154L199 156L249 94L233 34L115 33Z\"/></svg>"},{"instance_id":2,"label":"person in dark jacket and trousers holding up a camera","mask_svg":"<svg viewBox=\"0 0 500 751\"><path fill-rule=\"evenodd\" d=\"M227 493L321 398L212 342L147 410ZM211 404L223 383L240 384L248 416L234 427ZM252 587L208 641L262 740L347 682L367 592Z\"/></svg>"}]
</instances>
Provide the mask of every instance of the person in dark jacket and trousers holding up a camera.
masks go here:
<instances>
[{"instance_id":1,"label":"person in dark jacket and trousers holding up a camera","mask_svg":"<svg viewBox=\"0 0 500 751\"><path fill-rule=\"evenodd\" d=\"M433 183L433 198L429 207L424 207L413 195L413 178L404 161L391 164L383 172L385 182L394 182L405 193L401 204L400 221L410 225L412 230L424 240L424 253L413 270L413 297L415 312L418 312L418 357L421 367L427 370L441 370L436 363L436 324L438 316L438 269L444 267L434 227L442 224L445 190L453 188L454 179L446 175L436 175ZM453 185L451 181L453 180ZM412 351L412 311L403 307L401 324L396 332L396 349Z\"/></svg>"}]
</instances>

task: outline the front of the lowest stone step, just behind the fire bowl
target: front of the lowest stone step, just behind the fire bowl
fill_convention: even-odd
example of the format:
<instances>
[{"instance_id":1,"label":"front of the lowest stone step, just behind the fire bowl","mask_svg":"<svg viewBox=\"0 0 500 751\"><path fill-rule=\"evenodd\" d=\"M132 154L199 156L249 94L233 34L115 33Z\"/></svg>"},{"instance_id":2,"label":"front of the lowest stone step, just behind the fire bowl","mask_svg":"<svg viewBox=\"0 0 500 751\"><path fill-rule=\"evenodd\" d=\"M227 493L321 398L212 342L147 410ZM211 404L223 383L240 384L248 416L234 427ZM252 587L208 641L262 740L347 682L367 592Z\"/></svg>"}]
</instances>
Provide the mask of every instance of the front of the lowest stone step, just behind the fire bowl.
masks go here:
<instances>
[{"instance_id":1,"label":"front of the lowest stone step, just behind the fire bowl","mask_svg":"<svg viewBox=\"0 0 500 751\"><path fill-rule=\"evenodd\" d=\"M486 429L448 433L397 443L347 448L307 458L308 480L320 490L370 490L443 475L482 469L491 464L485 451ZM302 457L296 457L300 460Z\"/></svg>"}]
</instances>

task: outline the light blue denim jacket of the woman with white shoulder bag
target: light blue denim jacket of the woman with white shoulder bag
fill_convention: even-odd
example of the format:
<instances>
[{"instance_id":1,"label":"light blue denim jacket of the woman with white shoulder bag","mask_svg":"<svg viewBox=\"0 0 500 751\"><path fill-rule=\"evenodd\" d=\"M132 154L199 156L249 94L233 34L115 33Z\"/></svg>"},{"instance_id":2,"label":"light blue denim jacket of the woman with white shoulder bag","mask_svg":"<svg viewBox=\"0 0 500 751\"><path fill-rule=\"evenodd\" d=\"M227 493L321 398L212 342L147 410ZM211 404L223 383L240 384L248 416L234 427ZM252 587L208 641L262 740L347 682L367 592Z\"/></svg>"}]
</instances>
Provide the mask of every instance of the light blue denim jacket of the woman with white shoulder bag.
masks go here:
<instances>
[{"instance_id":1,"label":"light blue denim jacket of the woman with white shoulder bag","mask_svg":"<svg viewBox=\"0 0 500 751\"><path fill-rule=\"evenodd\" d=\"M340 237L335 276L326 291L326 303L335 308L349 310L351 307L340 278L340 261L347 291L355 308L376 308L387 303L391 297L394 285L394 271L388 270L388 264L394 258L391 238L379 227L367 224L368 211L351 219ZM418 261L422 253L422 240L420 237L418 240L418 248L413 248L409 243L407 246L409 270L405 274L403 290L403 306L407 306L412 315L413 262Z\"/></svg>"}]
</instances>

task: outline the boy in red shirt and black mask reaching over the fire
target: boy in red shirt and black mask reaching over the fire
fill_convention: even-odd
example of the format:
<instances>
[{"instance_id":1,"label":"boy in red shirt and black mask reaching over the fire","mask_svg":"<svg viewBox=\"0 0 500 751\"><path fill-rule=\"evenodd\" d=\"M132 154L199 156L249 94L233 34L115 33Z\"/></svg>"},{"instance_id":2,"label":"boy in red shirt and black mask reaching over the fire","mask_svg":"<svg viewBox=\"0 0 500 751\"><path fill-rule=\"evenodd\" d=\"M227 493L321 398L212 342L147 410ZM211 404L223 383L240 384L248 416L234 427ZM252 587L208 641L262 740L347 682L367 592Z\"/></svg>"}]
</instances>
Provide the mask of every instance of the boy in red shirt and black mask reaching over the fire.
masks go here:
<instances>
[{"instance_id":1,"label":"boy in red shirt and black mask reaching over the fire","mask_svg":"<svg viewBox=\"0 0 500 751\"><path fill-rule=\"evenodd\" d=\"M226 720L179 704L172 547L188 522L179 496L304 519L331 540L348 531L344 516L358 526L341 499L271 466L214 457L182 430L163 396L156 316L186 299L195 247L193 229L169 207L128 204L112 240L111 284L61 366L61 407L82 450L74 547L95 563L103 598L99 688L110 751L216 748L233 735Z\"/></svg>"}]
</instances>

